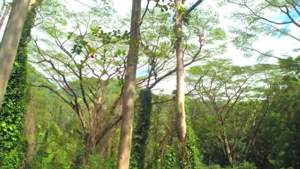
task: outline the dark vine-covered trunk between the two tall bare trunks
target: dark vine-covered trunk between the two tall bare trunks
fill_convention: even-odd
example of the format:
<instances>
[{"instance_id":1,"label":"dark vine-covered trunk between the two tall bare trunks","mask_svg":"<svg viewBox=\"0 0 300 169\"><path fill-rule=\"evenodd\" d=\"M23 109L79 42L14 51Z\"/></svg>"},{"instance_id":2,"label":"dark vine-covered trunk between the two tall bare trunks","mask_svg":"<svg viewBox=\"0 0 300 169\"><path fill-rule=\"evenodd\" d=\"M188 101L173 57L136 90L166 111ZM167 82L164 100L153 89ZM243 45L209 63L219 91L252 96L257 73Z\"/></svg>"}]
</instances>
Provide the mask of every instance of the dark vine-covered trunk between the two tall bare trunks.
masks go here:
<instances>
[{"instance_id":1,"label":"dark vine-covered trunk between the two tall bare trunks","mask_svg":"<svg viewBox=\"0 0 300 169\"><path fill-rule=\"evenodd\" d=\"M144 169L146 141L150 129L151 101L151 91L149 89L141 90L139 96L138 120L132 138L133 146L130 156L130 168Z\"/></svg>"}]
</instances>

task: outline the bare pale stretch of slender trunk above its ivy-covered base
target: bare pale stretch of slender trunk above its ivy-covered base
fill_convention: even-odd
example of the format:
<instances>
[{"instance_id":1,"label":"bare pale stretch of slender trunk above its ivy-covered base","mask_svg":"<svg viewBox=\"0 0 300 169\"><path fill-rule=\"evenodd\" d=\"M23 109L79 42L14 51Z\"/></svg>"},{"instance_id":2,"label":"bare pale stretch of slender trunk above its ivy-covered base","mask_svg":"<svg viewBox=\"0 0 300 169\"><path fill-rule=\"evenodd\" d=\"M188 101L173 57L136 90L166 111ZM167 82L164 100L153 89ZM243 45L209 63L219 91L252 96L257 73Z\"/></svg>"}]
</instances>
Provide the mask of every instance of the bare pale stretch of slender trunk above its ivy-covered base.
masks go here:
<instances>
[{"instance_id":1,"label":"bare pale stretch of slender trunk above its ivy-covered base","mask_svg":"<svg viewBox=\"0 0 300 169\"><path fill-rule=\"evenodd\" d=\"M185 82L184 82L184 60L182 39L182 12L180 6L182 0L175 0L175 35L176 35L176 58L177 58L177 134L180 142L185 142L187 125L185 112Z\"/></svg>"}]
</instances>

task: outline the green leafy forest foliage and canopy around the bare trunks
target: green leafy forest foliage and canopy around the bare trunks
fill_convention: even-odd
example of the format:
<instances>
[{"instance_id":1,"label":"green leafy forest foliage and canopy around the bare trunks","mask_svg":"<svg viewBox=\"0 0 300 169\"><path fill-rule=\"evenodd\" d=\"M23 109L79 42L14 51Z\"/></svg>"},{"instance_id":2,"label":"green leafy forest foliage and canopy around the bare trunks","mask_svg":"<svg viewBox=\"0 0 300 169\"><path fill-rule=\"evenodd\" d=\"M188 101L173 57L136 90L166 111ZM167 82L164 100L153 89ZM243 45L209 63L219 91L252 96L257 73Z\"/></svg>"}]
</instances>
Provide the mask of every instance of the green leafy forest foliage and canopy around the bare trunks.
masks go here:
<instances>
[{"instance_id":1,"label":"green leafy forest foliage and canopy around the bare trunks","mask_svg":"<svg viewBox=\"0 0 300 169\"><path fill-rule=\"evenodd\" d=\"M261 52L253 48L260 35L299 41L293 31L264 18L266 12L285 7L299 12L299 2L222 1L245 9L233 14L246 28L232 27L236 36L231 42L246 56L260 53L278 58L271 49ZM113 18L112 1L98 2L92 0L90 10L75 12L62 1L43 1L35 28L43 36L32 39L33 45L29 45L38 3L32 7L0 110L0 168L17 168L25 156L22 127L27 79L50 89L31 87L36 142L27 167L116 168L120 131L118 123L111 122L120 114L127 48L136 42L128 41L130 32L125 26L110 24L114 19L117 26L129 24L128 19ZM218 14L196 8L185 15L186 4L178 8L184 15L180 32L184 64L190 66L186 72L187 135L185 143L177 141L175 96L154 90L156 84L176 72L174 13L170 10L174 3L154 3L140 27L138 67L147 70L136 80L130 168L300 168L300 56L284 56L277 64L254 66L216 59L214 56L225 53L229 42L225 30L218 26ZM286 24L299 23L282 25ZM36 62L33 66L27 65L28 53ZM111 128L95 141L107 126Z\"/></svg>"}]
</instances>

